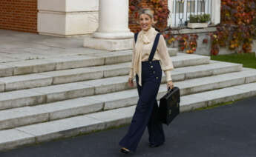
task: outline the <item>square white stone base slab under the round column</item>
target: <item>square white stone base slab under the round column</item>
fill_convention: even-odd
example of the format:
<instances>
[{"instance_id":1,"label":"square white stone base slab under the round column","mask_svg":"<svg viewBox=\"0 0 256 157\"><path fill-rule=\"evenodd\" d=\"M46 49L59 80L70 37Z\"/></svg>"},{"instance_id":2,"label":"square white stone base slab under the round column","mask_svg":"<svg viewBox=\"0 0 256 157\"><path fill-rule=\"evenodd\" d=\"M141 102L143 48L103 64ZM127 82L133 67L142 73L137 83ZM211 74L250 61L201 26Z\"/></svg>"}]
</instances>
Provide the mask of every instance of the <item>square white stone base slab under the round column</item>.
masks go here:
<instances>
[{"instance_id":1,"label":"square white stone base slab under the round column","mask_svg":"<svg viewBox=\"0 0 256 157\"><path fill-rule=\"evenodd\" d=\"M97 39L92 36L85 37L84 47L99 50L129 50L133 47L134 39Z\"/></svg>"}]
</instances>

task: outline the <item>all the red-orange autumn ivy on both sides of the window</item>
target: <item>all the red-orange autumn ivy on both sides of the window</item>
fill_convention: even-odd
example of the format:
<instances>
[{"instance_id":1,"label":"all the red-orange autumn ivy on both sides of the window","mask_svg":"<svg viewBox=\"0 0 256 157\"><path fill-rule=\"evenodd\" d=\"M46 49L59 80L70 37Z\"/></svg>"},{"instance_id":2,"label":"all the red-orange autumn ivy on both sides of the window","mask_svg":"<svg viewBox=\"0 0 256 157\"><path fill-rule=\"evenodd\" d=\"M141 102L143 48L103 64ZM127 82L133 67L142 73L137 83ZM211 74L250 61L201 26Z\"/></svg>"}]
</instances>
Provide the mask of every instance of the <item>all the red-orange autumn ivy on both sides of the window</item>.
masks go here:
<instances>
[{"instance_id":1,"label":"all the red-orange autumn ivy on both sides of the window","mask_svg":"<svg viewBox=\"0 0 256 157\"><path fill-rule=\"evenodd\" d=\"M170 10L163 1L145 0L151 10L154 10L154 19L157 20L156 28L163 33L168 44L178 41L180 50L186 53L194 53L197 48L196 34L171 35L171 29L166 30L166 20ZM129 19L139 19L138 11L142 8L142 0L130 0ZM256 0L222 0L221 22L217 25L217 31L209 33L211 37L211 55L217 55L220 47L227 47L237 53L251 53L252 40L256 39ZM131 20L129 24L136 21ZM137 30L139 31L139 30ZM208 39L203 39L207 44Z\"/></svg>"}]
</instances>

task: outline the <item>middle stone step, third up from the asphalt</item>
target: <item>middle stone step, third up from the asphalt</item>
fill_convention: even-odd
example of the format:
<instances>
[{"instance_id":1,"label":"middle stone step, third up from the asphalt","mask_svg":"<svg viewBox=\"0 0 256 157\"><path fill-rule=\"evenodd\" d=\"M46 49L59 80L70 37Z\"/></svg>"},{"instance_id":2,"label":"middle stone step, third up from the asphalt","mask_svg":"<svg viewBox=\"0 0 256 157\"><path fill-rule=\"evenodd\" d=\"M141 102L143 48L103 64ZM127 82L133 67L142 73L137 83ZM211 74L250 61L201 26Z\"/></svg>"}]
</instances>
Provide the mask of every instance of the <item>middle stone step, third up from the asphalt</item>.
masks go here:
<instances>
[{"instance_id":1,"label":"middle stone step, third up from the asphalt","mask_svg":"<svg viewBox=\"0 0 256 157\"><path fill-rule=\"evenodd\" d=\"M205 68L208 66L209 68ZM181 81L194 77L216 75L218 73L227 72L228 70L229 72L233 72L240 70L240 66L240 64L215 62L212 63L212 65L206 64L205 67L201 66L203 70L200 70L200 67L197 66L194 68L187 67L187 70L185 67L181 69L177 68L172 73L172 79L174 81ZM217 69L214 69L214 67L217 67ZM165 82L165 76L163 76L162 81L163 83ZM15 90L0 93L0 110L36 104L45 104L53 101L62 101L69 98L92 96L128 89L131 89L131 87L128 87L127 76L116 76L106 79L36 87L28 90Z\"/></svg>"}]
</instances>

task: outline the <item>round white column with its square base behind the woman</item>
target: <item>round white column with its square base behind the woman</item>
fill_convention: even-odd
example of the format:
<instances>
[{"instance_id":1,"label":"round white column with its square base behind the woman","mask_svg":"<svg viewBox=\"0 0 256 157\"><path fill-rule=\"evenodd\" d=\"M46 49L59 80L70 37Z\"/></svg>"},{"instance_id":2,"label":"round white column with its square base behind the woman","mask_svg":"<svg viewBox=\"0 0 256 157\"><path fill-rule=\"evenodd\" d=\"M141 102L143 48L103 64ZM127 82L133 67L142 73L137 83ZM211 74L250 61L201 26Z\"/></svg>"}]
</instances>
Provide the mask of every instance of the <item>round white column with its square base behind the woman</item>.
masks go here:
<instances>
[{"instance_id":1,"label":"round white column with its square base behind the woman","mask_svg":"<svg viewBox=\"0 0 256 157\"><path fill-rule=\"evenodd\" d=\"M134 33L128 28L128 0L99 0L99 27L85 37L84 47L102 50L132 48Z\"/></svg>"}]
</instances>

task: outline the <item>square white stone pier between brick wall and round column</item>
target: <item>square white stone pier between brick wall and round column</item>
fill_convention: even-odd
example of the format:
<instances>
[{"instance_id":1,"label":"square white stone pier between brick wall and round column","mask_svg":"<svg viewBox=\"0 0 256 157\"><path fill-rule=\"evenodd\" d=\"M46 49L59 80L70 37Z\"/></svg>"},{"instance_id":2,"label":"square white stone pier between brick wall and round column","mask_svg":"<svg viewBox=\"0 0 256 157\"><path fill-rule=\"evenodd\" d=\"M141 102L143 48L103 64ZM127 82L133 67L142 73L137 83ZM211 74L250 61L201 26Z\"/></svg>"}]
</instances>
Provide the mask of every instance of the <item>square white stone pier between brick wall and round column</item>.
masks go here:
<instances>
[{"instance_id":1,"label":"square white stone pier between brick wall and round column","mask_svg":"<svg viewBox=\"0 0 256 157\"><path fill-rule=\"evenodd\" d=\"M99 0L38 0L38 32L52 36L93 33Z\"/></svg>"}]
</instances>

